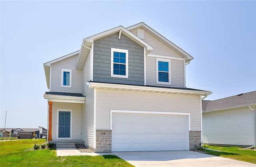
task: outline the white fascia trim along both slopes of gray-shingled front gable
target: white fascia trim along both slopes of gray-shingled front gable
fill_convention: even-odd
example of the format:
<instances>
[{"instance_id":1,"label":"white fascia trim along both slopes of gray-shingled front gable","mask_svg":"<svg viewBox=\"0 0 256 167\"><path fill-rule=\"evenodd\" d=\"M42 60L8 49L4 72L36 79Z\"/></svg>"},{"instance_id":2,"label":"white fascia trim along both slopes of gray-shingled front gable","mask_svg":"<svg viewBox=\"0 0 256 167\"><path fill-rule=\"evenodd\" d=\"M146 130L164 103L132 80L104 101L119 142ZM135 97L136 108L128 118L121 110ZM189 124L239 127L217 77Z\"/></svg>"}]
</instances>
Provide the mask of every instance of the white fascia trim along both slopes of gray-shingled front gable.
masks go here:
<instances>
[{"instance_id":1,"label":"white fascia trim along both slopes of gray-shingled front gable","mask_svg":"<svg viewBox=\"0 0 256 167\"><path fill-rule=\"evenodd\" d=\"M137 37L136 35L134 35L132 32L128 31L126 28L124 28L123 26L118 26L116 28L112 28L110 30L106 30L104 32L101 32L99 34L96 34L94 36L90 36L88 38L86 38L87 42L93 42L94 40L98 40L100 38L103 38L104 36L109 36L111 34L114 34L116 32L119 32L120 30L122 30L122 34L124 35L129 35L132 38L134 38L134 40L136 40L138 42L138 44L142 45L143 47L147 47L147 50L153 50L153 47L150 46L148 43L146 43L144 40L140 39L139 37Z\"/></svg>"}]
</instances>

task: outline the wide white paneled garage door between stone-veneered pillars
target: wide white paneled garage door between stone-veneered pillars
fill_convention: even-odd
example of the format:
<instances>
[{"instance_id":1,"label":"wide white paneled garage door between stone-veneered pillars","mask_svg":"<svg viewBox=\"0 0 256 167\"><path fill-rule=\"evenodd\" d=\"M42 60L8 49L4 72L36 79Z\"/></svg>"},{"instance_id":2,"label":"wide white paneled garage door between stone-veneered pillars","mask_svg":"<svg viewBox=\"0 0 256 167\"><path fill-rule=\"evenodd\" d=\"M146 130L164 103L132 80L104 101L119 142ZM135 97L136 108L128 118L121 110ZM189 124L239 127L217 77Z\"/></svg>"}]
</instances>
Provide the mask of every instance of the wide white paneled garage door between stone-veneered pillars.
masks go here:
<instances>
[{"instance_id":1,"label":"wide white paneled garage door between stone-veneered pillars","mask_svg":"<svg viewBox=\"0 0 256 167\"><path fill-rule=\"evenodd\" d=\"M112 113L112 151L188 150L187 115Z\"/></svg>"}]
</instances>

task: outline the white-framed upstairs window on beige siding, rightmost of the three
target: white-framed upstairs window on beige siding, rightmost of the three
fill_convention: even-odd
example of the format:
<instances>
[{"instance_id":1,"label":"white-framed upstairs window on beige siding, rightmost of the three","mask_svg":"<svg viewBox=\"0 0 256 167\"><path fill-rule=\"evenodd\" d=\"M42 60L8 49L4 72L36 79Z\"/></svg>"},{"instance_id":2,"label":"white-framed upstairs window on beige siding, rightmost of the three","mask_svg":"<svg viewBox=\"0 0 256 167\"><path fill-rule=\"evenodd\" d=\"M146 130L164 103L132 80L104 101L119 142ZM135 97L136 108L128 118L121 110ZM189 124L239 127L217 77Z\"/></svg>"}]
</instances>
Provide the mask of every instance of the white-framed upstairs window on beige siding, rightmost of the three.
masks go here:
<instances>
[{"instance_id":1,"label":"white-framed upstairs window on beige siding, rightmost of the three","mask_svg":"<svg viewBox=\"0 0 256 167\"><path fill-rule=\"evenodd\" d=\"M170 60L168 59L156 59L156 83L159 84L171 84L170 81Z\"/></svg>"}]
</instances>

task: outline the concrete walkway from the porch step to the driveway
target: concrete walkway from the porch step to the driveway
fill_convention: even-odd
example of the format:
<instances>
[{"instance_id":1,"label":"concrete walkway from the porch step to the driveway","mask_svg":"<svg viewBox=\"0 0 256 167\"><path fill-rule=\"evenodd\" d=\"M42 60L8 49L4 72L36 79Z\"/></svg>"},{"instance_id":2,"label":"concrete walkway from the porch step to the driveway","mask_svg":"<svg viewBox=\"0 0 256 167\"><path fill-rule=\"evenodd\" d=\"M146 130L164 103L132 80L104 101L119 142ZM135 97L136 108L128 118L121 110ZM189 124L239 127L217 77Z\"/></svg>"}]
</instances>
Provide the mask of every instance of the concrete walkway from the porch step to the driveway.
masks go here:
<instances>
[{"instance_id":1,"label":"concrete walkway from the porch step to the driveway","mask_svg":"<svg viewBox=\"0 0 256 167\"><path fill-rule=\"evenodd\" d=\"M113 155L112 153L81 153L74 148L57 148L57 157L60 156L79 156L79 155L89 155L89 156L98 156L98 155Z\"/></svg>"}]
</instances>

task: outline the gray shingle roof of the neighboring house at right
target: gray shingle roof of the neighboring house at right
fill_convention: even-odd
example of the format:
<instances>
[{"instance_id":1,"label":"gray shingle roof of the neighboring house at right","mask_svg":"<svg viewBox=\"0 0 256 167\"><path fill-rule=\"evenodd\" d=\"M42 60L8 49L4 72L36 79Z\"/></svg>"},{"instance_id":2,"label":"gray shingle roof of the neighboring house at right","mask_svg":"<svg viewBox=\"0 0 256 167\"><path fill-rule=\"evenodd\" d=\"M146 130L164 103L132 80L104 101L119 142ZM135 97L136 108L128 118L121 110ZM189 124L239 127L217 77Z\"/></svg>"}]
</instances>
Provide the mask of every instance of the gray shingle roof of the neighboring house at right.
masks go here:
<instances>
[{"instance_id":1,"label":"gray shingle roof of the neighboring house at right","mask_svg":"<svg viewBox=\"0 0 256 167\"><path fill-rule=\"evenodd\" d=\"M217 100L202 100L202 112L215 111L230 107L256 104L256 91L233 95Z\"/></svg>"}]
</instances>

